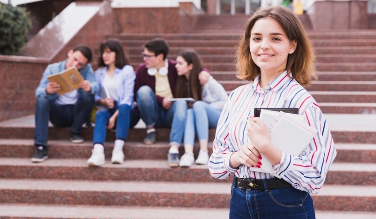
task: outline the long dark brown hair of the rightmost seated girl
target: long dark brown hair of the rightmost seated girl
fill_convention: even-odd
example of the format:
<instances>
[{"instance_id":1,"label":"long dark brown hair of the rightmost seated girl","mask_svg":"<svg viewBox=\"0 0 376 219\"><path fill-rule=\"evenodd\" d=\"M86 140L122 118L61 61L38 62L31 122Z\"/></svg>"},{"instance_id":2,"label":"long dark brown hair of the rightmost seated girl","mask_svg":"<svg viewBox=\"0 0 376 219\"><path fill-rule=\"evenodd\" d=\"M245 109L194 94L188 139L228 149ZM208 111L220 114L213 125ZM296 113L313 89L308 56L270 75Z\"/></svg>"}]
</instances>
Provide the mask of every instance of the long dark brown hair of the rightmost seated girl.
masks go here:
<instances>
[{"instance_id":1,"label":"long dark brown hair of the rightmost seated girl","mask_svg":"<svg viewBox=\"0 0 376 219\"><path fill-rule=\"evenodd\" d=\"M181 56L188 65L193 64L189 80L185 76L178 76L176 79L176 97L193 97L195 100L202 100L202 86L200 85L199 74L202 69L202 61L194 50L181 51ZM187 86L188 83L188 86Z\"/></svg>"}]
</instances>

